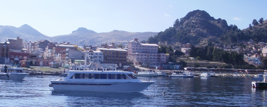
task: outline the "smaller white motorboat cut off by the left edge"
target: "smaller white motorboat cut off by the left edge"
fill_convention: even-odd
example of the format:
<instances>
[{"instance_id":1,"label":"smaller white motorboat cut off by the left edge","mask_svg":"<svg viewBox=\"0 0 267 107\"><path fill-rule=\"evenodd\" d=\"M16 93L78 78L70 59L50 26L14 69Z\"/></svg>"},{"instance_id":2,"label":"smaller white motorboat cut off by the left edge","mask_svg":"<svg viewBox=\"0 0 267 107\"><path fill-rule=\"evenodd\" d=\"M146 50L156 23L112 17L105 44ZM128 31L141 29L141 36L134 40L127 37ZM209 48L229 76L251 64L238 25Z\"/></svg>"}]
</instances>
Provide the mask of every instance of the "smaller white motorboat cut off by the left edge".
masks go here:
<instances>
[{"instance_id":1,"label":"smaller white motorboat cut off by the left edge","mask_svg":"<svg viewBox=\"0 0 267 107\"><path fill-rule=\"evenodd\" d=\"M6 69L5 69L6 66ZM29 73L25 73L23 68L5 65L0 68L0 79L24 79ZM6 70L6 71L5 71Z\"/></svg>"}]
</instances>

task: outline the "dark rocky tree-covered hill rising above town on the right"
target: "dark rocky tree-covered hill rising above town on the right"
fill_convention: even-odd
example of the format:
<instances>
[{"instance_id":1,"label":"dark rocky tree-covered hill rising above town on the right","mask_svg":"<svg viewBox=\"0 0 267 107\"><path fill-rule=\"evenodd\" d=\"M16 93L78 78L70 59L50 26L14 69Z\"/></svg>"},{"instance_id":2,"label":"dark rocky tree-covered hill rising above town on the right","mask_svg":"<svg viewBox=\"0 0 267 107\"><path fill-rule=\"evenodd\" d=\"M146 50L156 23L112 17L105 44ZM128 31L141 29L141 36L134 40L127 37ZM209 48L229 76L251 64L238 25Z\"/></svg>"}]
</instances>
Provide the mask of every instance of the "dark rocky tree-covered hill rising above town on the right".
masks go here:
<instances>
[{"instance_id":1,"label":"dark rocky tree-covered hill rising above town on the right","mask_svg":"<svg viewBox=\"0 0 267 107\"><path fill-rule=\"evenodd\" d=\"M173 27L159 32L148 39L149 43L165 43L169 45L186 44L207 45L208 43L221 43L237 45L239 41L254 40L267 41L267 20L263 18L257 22L253 20L248 29L240 30L236 25L228 26L226 20L215 19L205 11L194 10L179 19Z\"/></svg>"}]
</instances>

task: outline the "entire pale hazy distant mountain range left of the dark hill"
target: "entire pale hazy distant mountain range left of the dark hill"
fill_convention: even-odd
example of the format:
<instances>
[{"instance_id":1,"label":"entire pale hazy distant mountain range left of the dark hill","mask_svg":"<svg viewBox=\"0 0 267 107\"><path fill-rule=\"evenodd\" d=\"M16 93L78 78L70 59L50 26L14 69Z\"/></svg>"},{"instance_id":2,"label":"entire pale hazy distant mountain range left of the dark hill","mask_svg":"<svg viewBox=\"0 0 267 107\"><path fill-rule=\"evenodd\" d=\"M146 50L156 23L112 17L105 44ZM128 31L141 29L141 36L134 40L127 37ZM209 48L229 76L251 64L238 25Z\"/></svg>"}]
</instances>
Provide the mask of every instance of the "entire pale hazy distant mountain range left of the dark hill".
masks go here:
<instances>
[{"instance_id":1,"label":"entire pale hazy distant mountain range left of the dark hill","mask_svg":"<svg viewBox=\"0 0 267 107\"><path fill-rule=\"evenodd\" d=\"M46 36L31 26L25 24L21 27L0 26L0 42L5 42L7 38L20 37L27 41L49 40L51 42L70 42L70 44L83 46L85 44L97 45L115 43L125 46L130 40L138 38L138 40L148 40L150 36L156 35L157 32L127 32L127 31L110 31L97 33L87 30L86 28L78 28L76 31L67 35Z\"/></svg>"}]
</instances>

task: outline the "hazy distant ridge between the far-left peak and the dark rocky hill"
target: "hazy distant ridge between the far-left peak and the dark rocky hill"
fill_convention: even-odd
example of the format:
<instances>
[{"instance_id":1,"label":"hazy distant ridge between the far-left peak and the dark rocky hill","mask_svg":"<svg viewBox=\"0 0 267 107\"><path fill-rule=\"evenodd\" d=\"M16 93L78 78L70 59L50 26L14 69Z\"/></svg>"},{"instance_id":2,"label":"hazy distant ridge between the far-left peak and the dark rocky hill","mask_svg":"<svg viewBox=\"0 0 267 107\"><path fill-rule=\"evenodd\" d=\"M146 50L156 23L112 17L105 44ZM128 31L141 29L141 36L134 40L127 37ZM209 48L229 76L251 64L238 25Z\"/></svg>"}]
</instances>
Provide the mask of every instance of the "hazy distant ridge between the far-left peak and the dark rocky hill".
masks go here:
<instances>
[{"instance_id":1,"label":"hazy distant ridge between the far-left peak and the dark rocky hill","mask_svg":"<svg viewBox=\"0 0 267 107\"><path fill-rule=\"evenodd\" d=\"M127 31L110 31L97 33L85 28L79 28L76 31L72 31L71 34L53 36L50 41L57 42L70 42L75 45L97 45L115 43L115 45L122 44L125 46L130 40L138 38L139 41L148 40L150 36L154 36L157 32L127 32Z\"/></svg>"}]
</instances>

